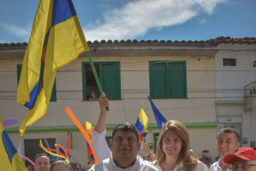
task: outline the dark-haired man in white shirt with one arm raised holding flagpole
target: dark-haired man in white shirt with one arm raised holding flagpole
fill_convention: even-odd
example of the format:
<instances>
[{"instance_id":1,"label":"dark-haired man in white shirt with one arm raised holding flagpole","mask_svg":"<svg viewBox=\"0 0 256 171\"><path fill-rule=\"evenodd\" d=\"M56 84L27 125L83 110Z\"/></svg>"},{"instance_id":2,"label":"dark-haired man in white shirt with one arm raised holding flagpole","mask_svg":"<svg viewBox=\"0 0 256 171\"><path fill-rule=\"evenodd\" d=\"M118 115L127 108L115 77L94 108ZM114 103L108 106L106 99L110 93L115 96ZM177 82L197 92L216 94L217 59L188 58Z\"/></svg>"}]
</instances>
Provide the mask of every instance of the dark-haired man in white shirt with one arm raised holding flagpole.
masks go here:
<instances>
[{"instance_id":1,"label":"dark-haired man in white shirt with one arm raised holding flagpole","mask_svg":"<svg viewBox=\"0 0 256 171\"><path fill-rule=\"evenodd\" d=\"M94 127L92 135L92 147L94 153L99 159L99 163L90 168L93 170L157 170L149 162L144 161L139 155L140 140L138 139L138 131L136 127L129 123L123 122L118 124L112 133L112 140L110 140L110 149L105 142L105 118L109 103L105 94L99 98L99 105L101 113L99 120Z\"/></svg>"}]
</instances>

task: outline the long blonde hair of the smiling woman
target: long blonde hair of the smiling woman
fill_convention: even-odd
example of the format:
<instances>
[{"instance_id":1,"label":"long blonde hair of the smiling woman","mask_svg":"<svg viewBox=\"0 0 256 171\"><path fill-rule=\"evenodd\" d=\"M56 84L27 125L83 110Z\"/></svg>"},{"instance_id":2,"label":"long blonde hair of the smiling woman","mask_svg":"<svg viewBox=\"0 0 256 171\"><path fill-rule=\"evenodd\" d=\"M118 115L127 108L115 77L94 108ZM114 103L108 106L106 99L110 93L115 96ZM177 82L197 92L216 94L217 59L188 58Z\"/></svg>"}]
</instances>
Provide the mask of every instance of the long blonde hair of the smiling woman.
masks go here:
<instances>
[{"instance_id":1,"label":"long blonde hair of the smiling woman","mask_svg":"<svg viewBox=\"0 0 256 171\"><path fill-rule=\"evenodd\" d=\"M164 137L164 134L168 130L176 131L181 137L181 140L183 141L183 147L181 148L177 162L179 163L180 161L183 161L183 166L186 171L194 170L194 168L196 168L197 161L194 157L191 157L189 154L190 135L188 134L188 130L185 128L184 124L182 124L178 120L168 120L164 124L164 127L162 127L157 140L157 153L155 154L155 164L166 160L166 154L164 153L162 147L162 139Z\"/></svg>"}]
</instances>

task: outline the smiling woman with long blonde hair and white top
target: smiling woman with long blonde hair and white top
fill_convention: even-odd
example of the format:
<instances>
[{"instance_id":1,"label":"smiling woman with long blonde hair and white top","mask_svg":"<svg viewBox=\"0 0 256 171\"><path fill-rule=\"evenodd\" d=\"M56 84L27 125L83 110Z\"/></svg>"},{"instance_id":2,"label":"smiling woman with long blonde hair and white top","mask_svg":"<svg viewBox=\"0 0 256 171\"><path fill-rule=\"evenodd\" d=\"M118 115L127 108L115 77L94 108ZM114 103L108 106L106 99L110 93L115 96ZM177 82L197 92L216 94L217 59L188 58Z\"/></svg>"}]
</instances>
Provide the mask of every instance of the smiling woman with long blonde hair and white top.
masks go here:
<instances>
[{"instance_id":1,"label":"smiling woman with long blonde hair and white top","mask_svg":"<svg viewBox=\"0 0 256 171\"><path fill-rule=\"evenodd\" d=\"M159 171L209 170L201 161L191 157L189 150L188 130L178 120L168 120L159 133L153 165Z\"/></svg>"}]
</instances>

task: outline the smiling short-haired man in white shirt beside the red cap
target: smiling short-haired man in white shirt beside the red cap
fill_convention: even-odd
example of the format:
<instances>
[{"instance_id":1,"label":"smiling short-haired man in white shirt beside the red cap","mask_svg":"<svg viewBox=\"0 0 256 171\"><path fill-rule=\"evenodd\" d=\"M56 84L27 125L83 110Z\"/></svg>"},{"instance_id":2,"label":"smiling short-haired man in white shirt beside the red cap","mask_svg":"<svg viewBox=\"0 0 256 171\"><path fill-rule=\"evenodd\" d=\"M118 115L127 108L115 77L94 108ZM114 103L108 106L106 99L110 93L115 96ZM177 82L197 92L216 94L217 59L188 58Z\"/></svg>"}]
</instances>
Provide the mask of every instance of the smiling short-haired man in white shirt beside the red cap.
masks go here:
<instances>
[{"instance_id":1,"label":"smiling short-haired man in white shirt beside the red cap","mask_svg":"<svg viewBox=\"0 0 256 171\"><path fill-rule=\"evenodd\" d=\"M229 163L224 162L226 155L235 154L235 150L240 146L240 135L238 131L230 127L222 128L218 131L216 140L216 150L220 159L212 164L211 171L229 170Z\"/></svg>"}]
</instances>

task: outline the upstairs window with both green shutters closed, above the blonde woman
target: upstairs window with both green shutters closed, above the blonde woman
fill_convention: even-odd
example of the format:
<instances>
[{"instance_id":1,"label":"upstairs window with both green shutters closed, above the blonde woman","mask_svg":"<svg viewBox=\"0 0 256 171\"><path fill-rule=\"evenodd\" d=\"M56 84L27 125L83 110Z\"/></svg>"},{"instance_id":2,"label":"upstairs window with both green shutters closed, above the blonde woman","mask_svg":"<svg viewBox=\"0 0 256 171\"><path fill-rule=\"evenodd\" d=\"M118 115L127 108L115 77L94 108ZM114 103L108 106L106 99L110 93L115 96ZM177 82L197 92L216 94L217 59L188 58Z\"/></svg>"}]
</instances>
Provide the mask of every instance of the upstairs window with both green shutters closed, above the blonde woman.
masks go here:
<instances>
[{"instance_id":1,"label":"upstairs window with both green shutters closed, above the blonde woman","mask_svg":"<svg viewBox=\"0 0 256 171\"><path fill-rule=\"evenodd\" d=\"M149 86L151 98L186 98L185 61L150 61Z\"/></svg>"}]
</instances>

